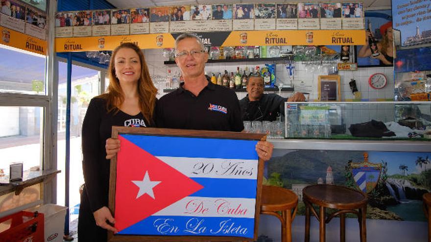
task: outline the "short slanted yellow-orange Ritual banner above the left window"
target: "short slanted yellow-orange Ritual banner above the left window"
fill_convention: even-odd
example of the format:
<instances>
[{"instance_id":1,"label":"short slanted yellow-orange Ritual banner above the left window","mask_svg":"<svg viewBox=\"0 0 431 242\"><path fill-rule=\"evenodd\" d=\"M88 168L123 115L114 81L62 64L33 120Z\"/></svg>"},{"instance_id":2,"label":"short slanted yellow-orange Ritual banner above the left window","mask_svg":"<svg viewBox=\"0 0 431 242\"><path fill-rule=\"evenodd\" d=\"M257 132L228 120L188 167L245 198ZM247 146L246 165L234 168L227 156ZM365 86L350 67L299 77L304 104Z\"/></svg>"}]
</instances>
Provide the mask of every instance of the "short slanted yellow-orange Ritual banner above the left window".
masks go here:
<instances>
[{"instance_id":1,"label":"short slanted yellow-orange Ritual banner above the left window","mask_svg":"<svg viewBox=\"0 0 431 242\"><path fill-rule=\"evenodd\" d=\"M0 33L0 44L27 50L41 55L47 55L47 42L44 40L1 26Z\"/></svg>"}]
</instances>

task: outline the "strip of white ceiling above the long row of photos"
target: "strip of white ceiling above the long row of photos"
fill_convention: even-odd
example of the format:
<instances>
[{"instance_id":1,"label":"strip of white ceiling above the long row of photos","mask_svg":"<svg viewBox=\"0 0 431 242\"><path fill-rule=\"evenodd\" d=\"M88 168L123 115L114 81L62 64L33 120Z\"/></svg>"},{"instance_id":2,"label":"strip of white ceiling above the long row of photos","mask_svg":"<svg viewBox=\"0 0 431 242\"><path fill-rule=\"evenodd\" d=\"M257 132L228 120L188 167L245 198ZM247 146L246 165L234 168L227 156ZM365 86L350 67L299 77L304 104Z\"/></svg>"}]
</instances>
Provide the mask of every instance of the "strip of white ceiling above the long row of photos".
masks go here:
<instances>
[{"instance_id":1,"label":"strip of white ceiling above the long row of photos","mask_svg":"<svg viewBox=\"0 0 431 242\"><path fill-rule=\"evenodd\" d=\"M317 2L313 0L107 0L117 8L198 5L217 3ZM321 1L321 0L319 0ZM327 0L325 2L363 2L366 9L387 9L391 0Z\"/></svg>"}]
</instances>

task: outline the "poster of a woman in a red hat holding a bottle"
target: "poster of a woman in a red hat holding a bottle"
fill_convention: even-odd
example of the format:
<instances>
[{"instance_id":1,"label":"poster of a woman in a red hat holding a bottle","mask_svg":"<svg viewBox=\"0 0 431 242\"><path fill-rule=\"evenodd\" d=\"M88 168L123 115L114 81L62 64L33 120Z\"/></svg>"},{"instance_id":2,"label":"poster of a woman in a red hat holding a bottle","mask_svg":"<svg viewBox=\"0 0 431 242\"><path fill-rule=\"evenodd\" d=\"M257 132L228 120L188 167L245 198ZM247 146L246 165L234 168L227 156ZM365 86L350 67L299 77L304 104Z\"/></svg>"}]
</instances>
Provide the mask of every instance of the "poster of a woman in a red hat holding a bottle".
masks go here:
<instances>
[{"instance_id":1,"label":"poster of a woman in a red hat holding a bottle","mask_svg":"<svg viewBox=\"0 0 431 242\"><path fill-rule=\"evenodd\" d=\"M388 46L388 43L393 41L391 21L390 9L365 11L365 29L369 29L376 38L380 53L382 53L382 46ZM388 47L385 49L388 50ZM370 47L367 45L356 45L356 52L358 53L358 67L393 66L393 64L384 64L378 58L373 58ZM393 53L383 52L386 52L383 54L385 59L393 63Z\"/></svg>"}]
</instances>

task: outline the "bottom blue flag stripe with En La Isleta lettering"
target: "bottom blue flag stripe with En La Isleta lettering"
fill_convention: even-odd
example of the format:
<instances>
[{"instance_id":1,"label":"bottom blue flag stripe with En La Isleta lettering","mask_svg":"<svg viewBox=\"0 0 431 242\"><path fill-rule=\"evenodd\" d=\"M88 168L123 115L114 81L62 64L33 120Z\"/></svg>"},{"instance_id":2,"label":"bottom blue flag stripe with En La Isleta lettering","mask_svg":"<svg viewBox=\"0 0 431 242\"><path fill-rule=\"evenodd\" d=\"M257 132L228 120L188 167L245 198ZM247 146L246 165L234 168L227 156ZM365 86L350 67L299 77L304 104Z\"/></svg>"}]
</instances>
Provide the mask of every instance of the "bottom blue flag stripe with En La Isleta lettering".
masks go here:
<instances>
[{"instance_id":1,"label":"bottom blue flag stripe with En La Isleta lettering","mask_svg":"<svg viewBox=\"0 0 431 242\"><path fill-rule=\"evenodd\" d=\"M150 216L121 230L121 235L235 236L253 238L254 219Z\"/></svg>"}]
</instances>

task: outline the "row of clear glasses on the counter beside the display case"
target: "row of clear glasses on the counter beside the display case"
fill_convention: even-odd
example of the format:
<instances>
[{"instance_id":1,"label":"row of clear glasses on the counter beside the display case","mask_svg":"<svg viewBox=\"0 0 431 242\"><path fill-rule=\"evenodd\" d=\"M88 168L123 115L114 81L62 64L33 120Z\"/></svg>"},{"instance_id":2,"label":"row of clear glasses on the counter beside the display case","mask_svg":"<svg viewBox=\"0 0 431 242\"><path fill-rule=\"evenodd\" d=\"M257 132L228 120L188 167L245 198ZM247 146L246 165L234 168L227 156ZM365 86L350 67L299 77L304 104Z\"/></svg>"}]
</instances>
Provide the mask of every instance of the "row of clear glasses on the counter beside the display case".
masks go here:
<instances>
[{"instance_id":1,"label":"row of clear glasses on the counter beside the display case","mask_svg":"<svg viewBox=\"0 0 431 242\"><path fill-rule=\"evenodd\" d=\"M282 139L284 124L280 121L244 121L244 132L265 133L269 139Z\"/></svg>"}]
</instances>

